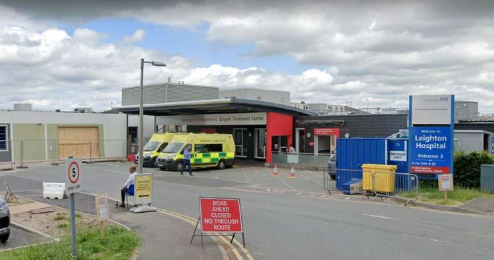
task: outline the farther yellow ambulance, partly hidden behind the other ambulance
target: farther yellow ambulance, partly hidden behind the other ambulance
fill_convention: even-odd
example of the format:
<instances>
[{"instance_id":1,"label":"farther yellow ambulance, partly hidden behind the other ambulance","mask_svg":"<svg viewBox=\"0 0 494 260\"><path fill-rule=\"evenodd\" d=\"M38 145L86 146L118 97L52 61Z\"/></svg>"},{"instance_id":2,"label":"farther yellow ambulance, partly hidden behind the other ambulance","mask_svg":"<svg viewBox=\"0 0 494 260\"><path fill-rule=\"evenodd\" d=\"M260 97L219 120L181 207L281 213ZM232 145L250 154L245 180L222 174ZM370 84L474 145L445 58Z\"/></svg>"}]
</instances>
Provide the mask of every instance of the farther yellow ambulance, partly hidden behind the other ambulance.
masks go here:
<instances>
[{"instance_id":1,"label":"farther yellow ambulance, partly hidden behind the other ambulance","mask_svg":"<svg viewBox=\"0 0 494 260\"><path fill-rule=\"evenodd\" d=\"M142 165L144 167L155 167L156 158L173 139L173 136L175 136L175 133L153 133L151 139L142 148L142 156L144 157ZM139 162L138 157L138 155L135 156L135 163Z\"/></svg>"}]
</instances>

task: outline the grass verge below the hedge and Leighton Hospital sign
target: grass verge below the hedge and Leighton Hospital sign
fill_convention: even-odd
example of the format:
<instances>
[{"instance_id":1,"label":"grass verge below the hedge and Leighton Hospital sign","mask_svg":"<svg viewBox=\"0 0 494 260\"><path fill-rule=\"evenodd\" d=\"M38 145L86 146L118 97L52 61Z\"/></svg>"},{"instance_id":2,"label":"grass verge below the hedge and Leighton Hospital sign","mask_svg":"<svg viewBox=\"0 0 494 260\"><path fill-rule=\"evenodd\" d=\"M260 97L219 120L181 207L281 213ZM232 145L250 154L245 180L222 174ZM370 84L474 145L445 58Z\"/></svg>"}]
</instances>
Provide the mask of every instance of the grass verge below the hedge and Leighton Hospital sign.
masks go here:
<instances>
[{"instance_id":1,"label":"grass verge below the hedge and Leighton Hospital sign","mask_svg":"<svg viewBox=\"0 0 494 260\"><path fill-rule=\"evenodd\" d=\"M413 194L403 193L404 197L413 197ZM444 199L444 192L437 188L420 188L418 201L438 204L438 205L460 205L474 198L493 198L494 194L481 192L477 189L458 188L448 192L448 200Z\"/></svg>"}]
</instances>

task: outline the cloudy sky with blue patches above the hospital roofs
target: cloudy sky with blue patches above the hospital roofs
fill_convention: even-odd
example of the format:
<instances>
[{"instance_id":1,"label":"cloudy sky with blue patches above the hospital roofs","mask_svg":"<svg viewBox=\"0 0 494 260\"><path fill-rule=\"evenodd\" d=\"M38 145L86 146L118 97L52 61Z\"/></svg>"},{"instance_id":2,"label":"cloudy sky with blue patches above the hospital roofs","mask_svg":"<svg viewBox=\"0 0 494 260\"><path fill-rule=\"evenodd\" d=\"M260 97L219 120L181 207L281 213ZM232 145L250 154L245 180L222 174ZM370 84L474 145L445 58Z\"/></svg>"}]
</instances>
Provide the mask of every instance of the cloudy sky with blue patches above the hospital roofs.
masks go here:
<instances>
[{"instance_id":1,"label":"cloudy sky with blue patches above the hospital roofs","mask_svg":"<svg viewBox=\"0 0 494 260\"><path fill-rule=\"evenodd\" d=\"M455 94L494 113L494 1L0 0L0 108L120 105L185 81L293 101L407 107Z\"/></svg>"}]
</instances>

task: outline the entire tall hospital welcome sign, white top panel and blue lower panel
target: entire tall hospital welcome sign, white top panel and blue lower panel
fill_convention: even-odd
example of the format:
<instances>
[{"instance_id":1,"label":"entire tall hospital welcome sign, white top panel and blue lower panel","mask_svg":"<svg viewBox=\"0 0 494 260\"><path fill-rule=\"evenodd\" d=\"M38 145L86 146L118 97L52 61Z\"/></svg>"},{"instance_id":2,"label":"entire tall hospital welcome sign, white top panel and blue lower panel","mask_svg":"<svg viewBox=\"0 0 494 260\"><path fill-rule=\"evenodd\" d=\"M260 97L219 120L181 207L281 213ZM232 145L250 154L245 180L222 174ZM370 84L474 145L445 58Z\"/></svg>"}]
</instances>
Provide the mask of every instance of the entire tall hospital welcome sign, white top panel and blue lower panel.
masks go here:
<instances>
[{"instance_id":1,"label":"entire tall hospital welcome sign, white top panel and blue lower panel","mask_svg":"<svg viewBox=\"0 0 494 260\"><path fill-rule=\"evenodd\" d=\"M453 174L454 95L410 96L409 172Z\"/></svg>"}]
</instances>

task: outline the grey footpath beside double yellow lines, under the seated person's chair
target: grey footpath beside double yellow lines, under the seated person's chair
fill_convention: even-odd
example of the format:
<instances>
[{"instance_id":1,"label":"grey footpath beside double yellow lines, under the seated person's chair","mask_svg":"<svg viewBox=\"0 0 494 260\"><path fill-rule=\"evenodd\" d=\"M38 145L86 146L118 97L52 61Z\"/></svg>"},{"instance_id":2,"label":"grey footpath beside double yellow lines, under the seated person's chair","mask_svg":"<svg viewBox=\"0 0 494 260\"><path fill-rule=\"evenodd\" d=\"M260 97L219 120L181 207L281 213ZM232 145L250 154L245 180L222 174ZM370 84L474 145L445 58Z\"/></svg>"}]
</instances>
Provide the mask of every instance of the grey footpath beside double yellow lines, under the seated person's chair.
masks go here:
<instances>
[{"instance_id":1,"label":"grey footpath beside double yellow lines, under the seated person's chair","mask_svg":"<svg viewBox=\"0 0 494 260\"><path fill-rule=\"evenodd\" d=\"M42 191L18 192L16 195L63 208L70 207L69 199L44 199ZM201 249L200 237L196 237L190 245L194 231L191 220L179 219L165 211L134 214L126 209L117 209L115 204L114 200L109 200L111 219L130 227L143 238L137 259L218 260L233 254L227 253L210 237L204 239L204 250ZM94 215L94 196L76 194L76 210Z\"/></svg>"}]
</instances>

